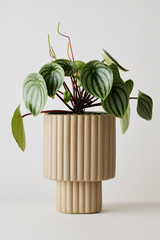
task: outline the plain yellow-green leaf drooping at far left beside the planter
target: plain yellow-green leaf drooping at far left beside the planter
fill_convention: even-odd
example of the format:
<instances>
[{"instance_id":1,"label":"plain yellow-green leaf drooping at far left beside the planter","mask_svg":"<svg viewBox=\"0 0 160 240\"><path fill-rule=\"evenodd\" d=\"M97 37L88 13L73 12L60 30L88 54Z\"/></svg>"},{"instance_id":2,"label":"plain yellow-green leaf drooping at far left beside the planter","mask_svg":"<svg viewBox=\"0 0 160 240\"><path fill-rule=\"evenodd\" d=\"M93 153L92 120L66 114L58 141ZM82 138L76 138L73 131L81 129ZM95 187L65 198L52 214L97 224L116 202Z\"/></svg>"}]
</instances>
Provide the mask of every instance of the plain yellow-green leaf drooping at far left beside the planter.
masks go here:
<instances>
[{"instance_id":1,"label":"plain yellow-green leaf drooping at far left beside the planter","mask_svg":"<svg viewBox=\"0 0 160 240\"><path fill-rule=\"evenodd\" d=\"M12 127L12 134L14 139L16 140L21 150L24 152L26 147L26 138L25 138L24 125L23 125L23 118L20 112L20 105L16 108L13 114L11 127Z\"/></svg>"}]
</instances>

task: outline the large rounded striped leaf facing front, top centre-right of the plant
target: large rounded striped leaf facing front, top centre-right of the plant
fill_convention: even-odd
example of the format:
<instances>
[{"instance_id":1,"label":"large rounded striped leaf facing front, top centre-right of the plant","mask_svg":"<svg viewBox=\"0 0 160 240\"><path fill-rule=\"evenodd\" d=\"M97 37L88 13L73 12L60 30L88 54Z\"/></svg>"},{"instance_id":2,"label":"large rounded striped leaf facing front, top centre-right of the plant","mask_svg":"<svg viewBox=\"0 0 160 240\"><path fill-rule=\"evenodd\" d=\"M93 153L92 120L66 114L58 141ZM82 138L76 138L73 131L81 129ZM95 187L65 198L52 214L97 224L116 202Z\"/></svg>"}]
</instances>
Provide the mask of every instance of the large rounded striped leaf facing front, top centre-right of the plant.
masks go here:
<instances>
[{"instance_id":1,"label":"large rounded striped leaf facing front, top centre-right of the plant","mask_svg":"<svg viewBox=\"0 0 160 240\"><path fill-rule=\"evenodd\" d=\"M105 99L113 84L113 73L106 64L94 60L85 64L81 71L81 84L91 95Z\"/></svg>"}]
</instances>

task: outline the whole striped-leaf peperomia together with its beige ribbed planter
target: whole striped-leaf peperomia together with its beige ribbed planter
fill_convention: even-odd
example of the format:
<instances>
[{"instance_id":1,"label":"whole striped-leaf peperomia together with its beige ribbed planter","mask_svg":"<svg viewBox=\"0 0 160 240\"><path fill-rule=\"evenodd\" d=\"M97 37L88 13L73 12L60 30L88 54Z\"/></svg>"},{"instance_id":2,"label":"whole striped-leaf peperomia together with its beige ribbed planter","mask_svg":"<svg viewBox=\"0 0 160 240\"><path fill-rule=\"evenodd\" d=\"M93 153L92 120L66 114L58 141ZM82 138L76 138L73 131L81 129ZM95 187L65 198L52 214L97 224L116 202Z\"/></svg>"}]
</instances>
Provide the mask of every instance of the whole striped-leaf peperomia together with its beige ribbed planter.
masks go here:
<instances>
[{"instance_id":1,"label":"whole striped-leaf peperomia together with its beige ribbed planter","mask_svg":"<svg viewBox=\"0 0 160 240\"><path fill-rule=\"evenodd\" d=\"M115 118L120 119L124 134L129 126L129 100L137 100L137 113L145 120L152 118L153 102L141 91L137 97L130 96L134 83L122 80L119 72L128 70L106 50L102 61L75 61L70 37L60 33L59 24L57 30L69 40L68 59L57 59L48 35L53 61L24 80L23 98L30 113L21 115L20 105L17 107L12 133L24 151L23 118L44 113L43 171L44 177L57 181L57 210L98 212L102 207L101 182L115 176ZM43 110L48 96L58 97L69 110ZM95 106L102 106L104 112L86 112Z\"/></svg>"}]
</instances>

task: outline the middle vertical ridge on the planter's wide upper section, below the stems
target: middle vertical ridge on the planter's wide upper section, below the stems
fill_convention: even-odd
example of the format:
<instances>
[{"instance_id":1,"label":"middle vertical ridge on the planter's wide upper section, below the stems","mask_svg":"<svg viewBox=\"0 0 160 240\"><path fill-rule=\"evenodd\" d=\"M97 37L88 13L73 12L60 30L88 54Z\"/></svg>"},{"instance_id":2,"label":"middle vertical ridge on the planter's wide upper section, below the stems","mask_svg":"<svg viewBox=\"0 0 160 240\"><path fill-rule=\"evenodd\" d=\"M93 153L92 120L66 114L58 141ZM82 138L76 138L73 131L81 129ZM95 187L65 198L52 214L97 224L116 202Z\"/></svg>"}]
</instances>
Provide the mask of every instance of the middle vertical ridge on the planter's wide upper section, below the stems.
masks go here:
<instances>
[{"instance_id":1,"label":"middle vertical ridge on the planter's wide upper section, below the stems","mask_svg":"<svg viewBox=\"0 0 160 240\"><path fill-rule=\"evenodd\" d=\"M84 179L84 118L78 116L78 142L77 142L77 180L83 181Z\"/></svg>"}]
</instances>

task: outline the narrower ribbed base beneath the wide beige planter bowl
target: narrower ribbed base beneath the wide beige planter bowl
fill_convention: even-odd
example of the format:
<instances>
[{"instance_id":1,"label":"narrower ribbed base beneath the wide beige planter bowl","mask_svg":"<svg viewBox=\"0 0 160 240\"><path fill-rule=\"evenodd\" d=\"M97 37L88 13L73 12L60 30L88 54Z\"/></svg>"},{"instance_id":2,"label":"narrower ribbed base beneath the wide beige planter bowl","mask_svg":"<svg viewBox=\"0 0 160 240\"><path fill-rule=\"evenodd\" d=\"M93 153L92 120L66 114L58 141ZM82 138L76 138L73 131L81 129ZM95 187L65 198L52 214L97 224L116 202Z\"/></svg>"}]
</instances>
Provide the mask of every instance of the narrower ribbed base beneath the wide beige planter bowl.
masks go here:
<instances>
[{"instance_id":1,"label":"narrower ribbed base beneath the wide beige planter bowl","mask_svg":"<svg viewBox=\"0 0 160 240\"><path fill-rule=\"evenodd\" d=\"M96 213L102 208L102 182L56 181L56 209L62 213Z\"/></svg>"}]
</instances>

